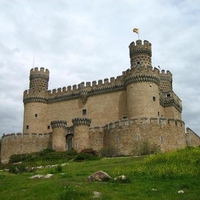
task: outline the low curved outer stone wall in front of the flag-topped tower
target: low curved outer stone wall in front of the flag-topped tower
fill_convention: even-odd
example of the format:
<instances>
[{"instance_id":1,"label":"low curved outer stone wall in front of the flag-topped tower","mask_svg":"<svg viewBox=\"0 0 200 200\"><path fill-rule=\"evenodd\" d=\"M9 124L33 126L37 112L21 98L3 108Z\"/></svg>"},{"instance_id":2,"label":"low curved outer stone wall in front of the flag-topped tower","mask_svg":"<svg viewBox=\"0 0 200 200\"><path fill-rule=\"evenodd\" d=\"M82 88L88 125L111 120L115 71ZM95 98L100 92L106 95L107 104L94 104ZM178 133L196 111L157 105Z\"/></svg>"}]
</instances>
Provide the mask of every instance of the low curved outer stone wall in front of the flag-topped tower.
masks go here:
<instances>
[{"instance_id":1,"label":"low curved outer stone wall in front of the flag-topped tower","mask_svg":"<svg viewBox=\"0 0 200 200\"><path fill-rule=\"evenodd\" d=\"M185 147L184 122L166 118L135 118L110 123L101 129L91 129L91 146L99 150L96 138L103 136L103 147L113 147L119 155L130 155L142 142L160 147L162 152ZM103 134L102 134L103 132ZM102 138L101 138L102 140ZM99 140L99 141L101 141ZM101 146L101 147L102 147Z\"/></svg>"}]
</instances>

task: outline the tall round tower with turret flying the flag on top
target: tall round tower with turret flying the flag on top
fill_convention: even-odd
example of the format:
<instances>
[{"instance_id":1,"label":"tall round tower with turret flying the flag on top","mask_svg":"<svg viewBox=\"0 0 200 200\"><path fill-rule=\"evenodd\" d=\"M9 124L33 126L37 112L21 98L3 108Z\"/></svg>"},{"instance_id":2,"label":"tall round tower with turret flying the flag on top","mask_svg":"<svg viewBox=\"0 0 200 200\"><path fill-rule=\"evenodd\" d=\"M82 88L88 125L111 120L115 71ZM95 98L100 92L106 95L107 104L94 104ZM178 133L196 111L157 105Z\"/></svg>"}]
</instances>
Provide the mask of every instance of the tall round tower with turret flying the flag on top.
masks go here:
<instances>
[{"instance_id":1,"label":"tall round tower with turret flying the flag on top","mask_svg":"<svg viewBox=\"0 0 200 200\"><path fill-rule=\"evenodd\" d=\"M151 43L141 40L130 44L131 69L125 79L128 118L159 117L160 71L151 67Z\"/></svg>"}]
</instances>

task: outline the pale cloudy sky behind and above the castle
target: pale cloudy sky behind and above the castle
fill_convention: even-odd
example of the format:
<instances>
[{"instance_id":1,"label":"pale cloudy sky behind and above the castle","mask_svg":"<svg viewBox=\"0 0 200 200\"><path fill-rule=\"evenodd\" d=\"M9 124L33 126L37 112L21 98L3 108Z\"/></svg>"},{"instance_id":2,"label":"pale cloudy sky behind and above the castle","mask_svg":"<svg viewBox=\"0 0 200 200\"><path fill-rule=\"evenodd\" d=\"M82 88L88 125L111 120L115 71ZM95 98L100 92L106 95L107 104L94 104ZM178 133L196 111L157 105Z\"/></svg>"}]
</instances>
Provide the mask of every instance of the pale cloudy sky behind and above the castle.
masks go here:
<instances>
[{"instance_id":1,"label":"pale cloudy sky behind and above the castle","mask_svg":"<svg viewBox=\"0 0 200 200\"><path fill-rule=\"evenodd\" d=\"M49 89L116 77L130 67L134 27L200 135L199 0L0 0L0 27L0 135L22 131L33 58L50 70Z\"/></svg>"}]
</instances>

